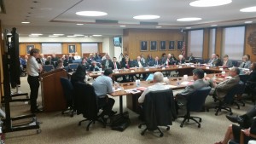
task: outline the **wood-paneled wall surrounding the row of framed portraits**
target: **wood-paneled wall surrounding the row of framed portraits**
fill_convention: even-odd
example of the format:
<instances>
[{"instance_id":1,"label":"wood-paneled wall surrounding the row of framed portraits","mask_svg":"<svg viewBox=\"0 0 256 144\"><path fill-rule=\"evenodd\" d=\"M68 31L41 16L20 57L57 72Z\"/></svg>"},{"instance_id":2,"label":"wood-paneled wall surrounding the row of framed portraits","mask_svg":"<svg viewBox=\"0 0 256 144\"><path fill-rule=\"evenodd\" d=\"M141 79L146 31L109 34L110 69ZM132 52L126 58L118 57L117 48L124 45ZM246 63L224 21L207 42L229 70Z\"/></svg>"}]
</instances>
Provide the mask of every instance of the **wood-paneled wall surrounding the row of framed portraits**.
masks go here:
<instances>
[{"instance_id":1,"label":"wood-paneled wall surrounding the row of framed portraits","mask_svg":"<svg viewBox=\"0 0 256 144\"><path fill-rule=\"evenodd\" d=\"M125 29L123 35L123 47L124 54L128 54L131 59L136 59L138 55L143 54L147 57L149 54L155 56L161 56L163 53L173 53L176 57L181 54L180 50L177 50L177 41L183 41L183 33L179 30L148 30L148 29ZM140 51L141 41L148 41L148 51ZM158 50L150 51L150 41L157 41ZM166 41L166 49L168 48L168 42L175 42L175 50L159 50L160 41Z\"/></svg>"}]
</instances>

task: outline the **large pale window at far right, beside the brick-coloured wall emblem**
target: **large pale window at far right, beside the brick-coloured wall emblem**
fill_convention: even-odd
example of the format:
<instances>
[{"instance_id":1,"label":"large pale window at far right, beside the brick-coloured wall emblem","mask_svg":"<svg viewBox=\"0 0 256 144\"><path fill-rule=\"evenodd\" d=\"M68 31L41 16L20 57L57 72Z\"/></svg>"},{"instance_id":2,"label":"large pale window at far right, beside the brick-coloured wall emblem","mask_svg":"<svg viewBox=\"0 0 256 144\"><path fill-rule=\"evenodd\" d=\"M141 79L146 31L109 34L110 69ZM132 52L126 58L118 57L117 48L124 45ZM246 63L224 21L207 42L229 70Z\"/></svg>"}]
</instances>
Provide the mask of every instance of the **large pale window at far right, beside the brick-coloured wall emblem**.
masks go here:
<instances>
[{"instance_id":1,"label":"large pale window at far right, beside the brick-coloured wall emblem","mask_svg":"<svg viewBox=\"0 0 256 144\"><path fill-rule=\"evenodd\" d=\"M222 55L241 60L244 53L245 26L227 27L223 31Z\"/></svg>"}]
</instances>

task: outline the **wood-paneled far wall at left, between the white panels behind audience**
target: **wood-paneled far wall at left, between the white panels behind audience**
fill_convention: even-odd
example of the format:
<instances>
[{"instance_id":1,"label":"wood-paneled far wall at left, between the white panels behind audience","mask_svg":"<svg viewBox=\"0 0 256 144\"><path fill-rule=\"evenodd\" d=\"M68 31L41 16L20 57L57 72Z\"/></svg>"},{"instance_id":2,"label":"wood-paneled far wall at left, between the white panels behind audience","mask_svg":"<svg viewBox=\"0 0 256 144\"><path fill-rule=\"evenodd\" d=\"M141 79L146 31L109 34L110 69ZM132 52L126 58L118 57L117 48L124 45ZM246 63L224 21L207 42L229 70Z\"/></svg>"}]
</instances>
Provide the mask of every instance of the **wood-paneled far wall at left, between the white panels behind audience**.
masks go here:
<instances>
[{"instance_id":1,"label":"wood-paneled far wall at left, between the white panels behind audience","mask_svg":"<svg viewBox=\"0 0 256 144\"><path fill-rule=\"evenodd\" d=\"M20 43L20 55L26 55L26 45L33 44L35 48L41 50L42 43ZM81 43L62 43L62 54L68 54L68 45L76 45L76 50L80 56L82 56L82 45ZM98 52L102 52L102 43L98 43Z\"/></svg>"}]
</instances>

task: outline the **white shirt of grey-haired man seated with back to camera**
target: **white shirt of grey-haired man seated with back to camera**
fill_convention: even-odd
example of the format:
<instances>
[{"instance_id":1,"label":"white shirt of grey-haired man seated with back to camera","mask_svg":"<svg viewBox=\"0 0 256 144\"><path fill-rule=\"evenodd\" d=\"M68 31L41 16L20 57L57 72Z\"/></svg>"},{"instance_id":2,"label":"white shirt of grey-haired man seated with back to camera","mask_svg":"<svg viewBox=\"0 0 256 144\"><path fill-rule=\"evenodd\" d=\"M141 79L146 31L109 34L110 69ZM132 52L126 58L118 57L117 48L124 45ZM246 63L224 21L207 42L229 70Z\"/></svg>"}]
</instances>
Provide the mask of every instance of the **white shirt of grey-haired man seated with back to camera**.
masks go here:
<instances>
[{"instance_id":1,"label":"white shirt of grey-haired man seated with back to camera","mask_svg":"<svg viewBox=\"0 0 256 144\"><path fill-rule=\"evenodd\" d=\"M152 86L149 86L145 91L143 91L143 94L138 98L138 102L143 103L145 99L145 95L147 95L150 91L158 91L158 90L166 90L166 89L170 89L170 87L160 83L156 83Z\"/></svg>"}]
</instances>

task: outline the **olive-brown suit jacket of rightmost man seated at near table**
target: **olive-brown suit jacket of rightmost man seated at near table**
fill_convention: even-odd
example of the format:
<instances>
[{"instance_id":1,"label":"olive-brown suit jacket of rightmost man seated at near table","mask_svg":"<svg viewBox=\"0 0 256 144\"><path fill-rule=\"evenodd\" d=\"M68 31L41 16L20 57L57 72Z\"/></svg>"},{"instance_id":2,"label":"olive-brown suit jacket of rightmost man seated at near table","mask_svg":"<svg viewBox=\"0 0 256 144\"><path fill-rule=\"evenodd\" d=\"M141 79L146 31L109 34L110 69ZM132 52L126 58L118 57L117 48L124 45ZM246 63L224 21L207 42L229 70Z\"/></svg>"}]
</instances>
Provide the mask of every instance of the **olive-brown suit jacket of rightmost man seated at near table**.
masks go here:
<instances>
[{"instance_id":1,"label":"olive-brown suit jacket of rightmost man seated at near table","mask_svg":"<svg viewBox=\"0 0 256 144\"><path fill-rule=\"evenodd\" d=\"M228 94L230 89L232 89L236 84L238 84L239 81L239 76L236 76L218 84L215 88L217 97L224 98L224 96Z\"/></svg>"}]
</instances>

